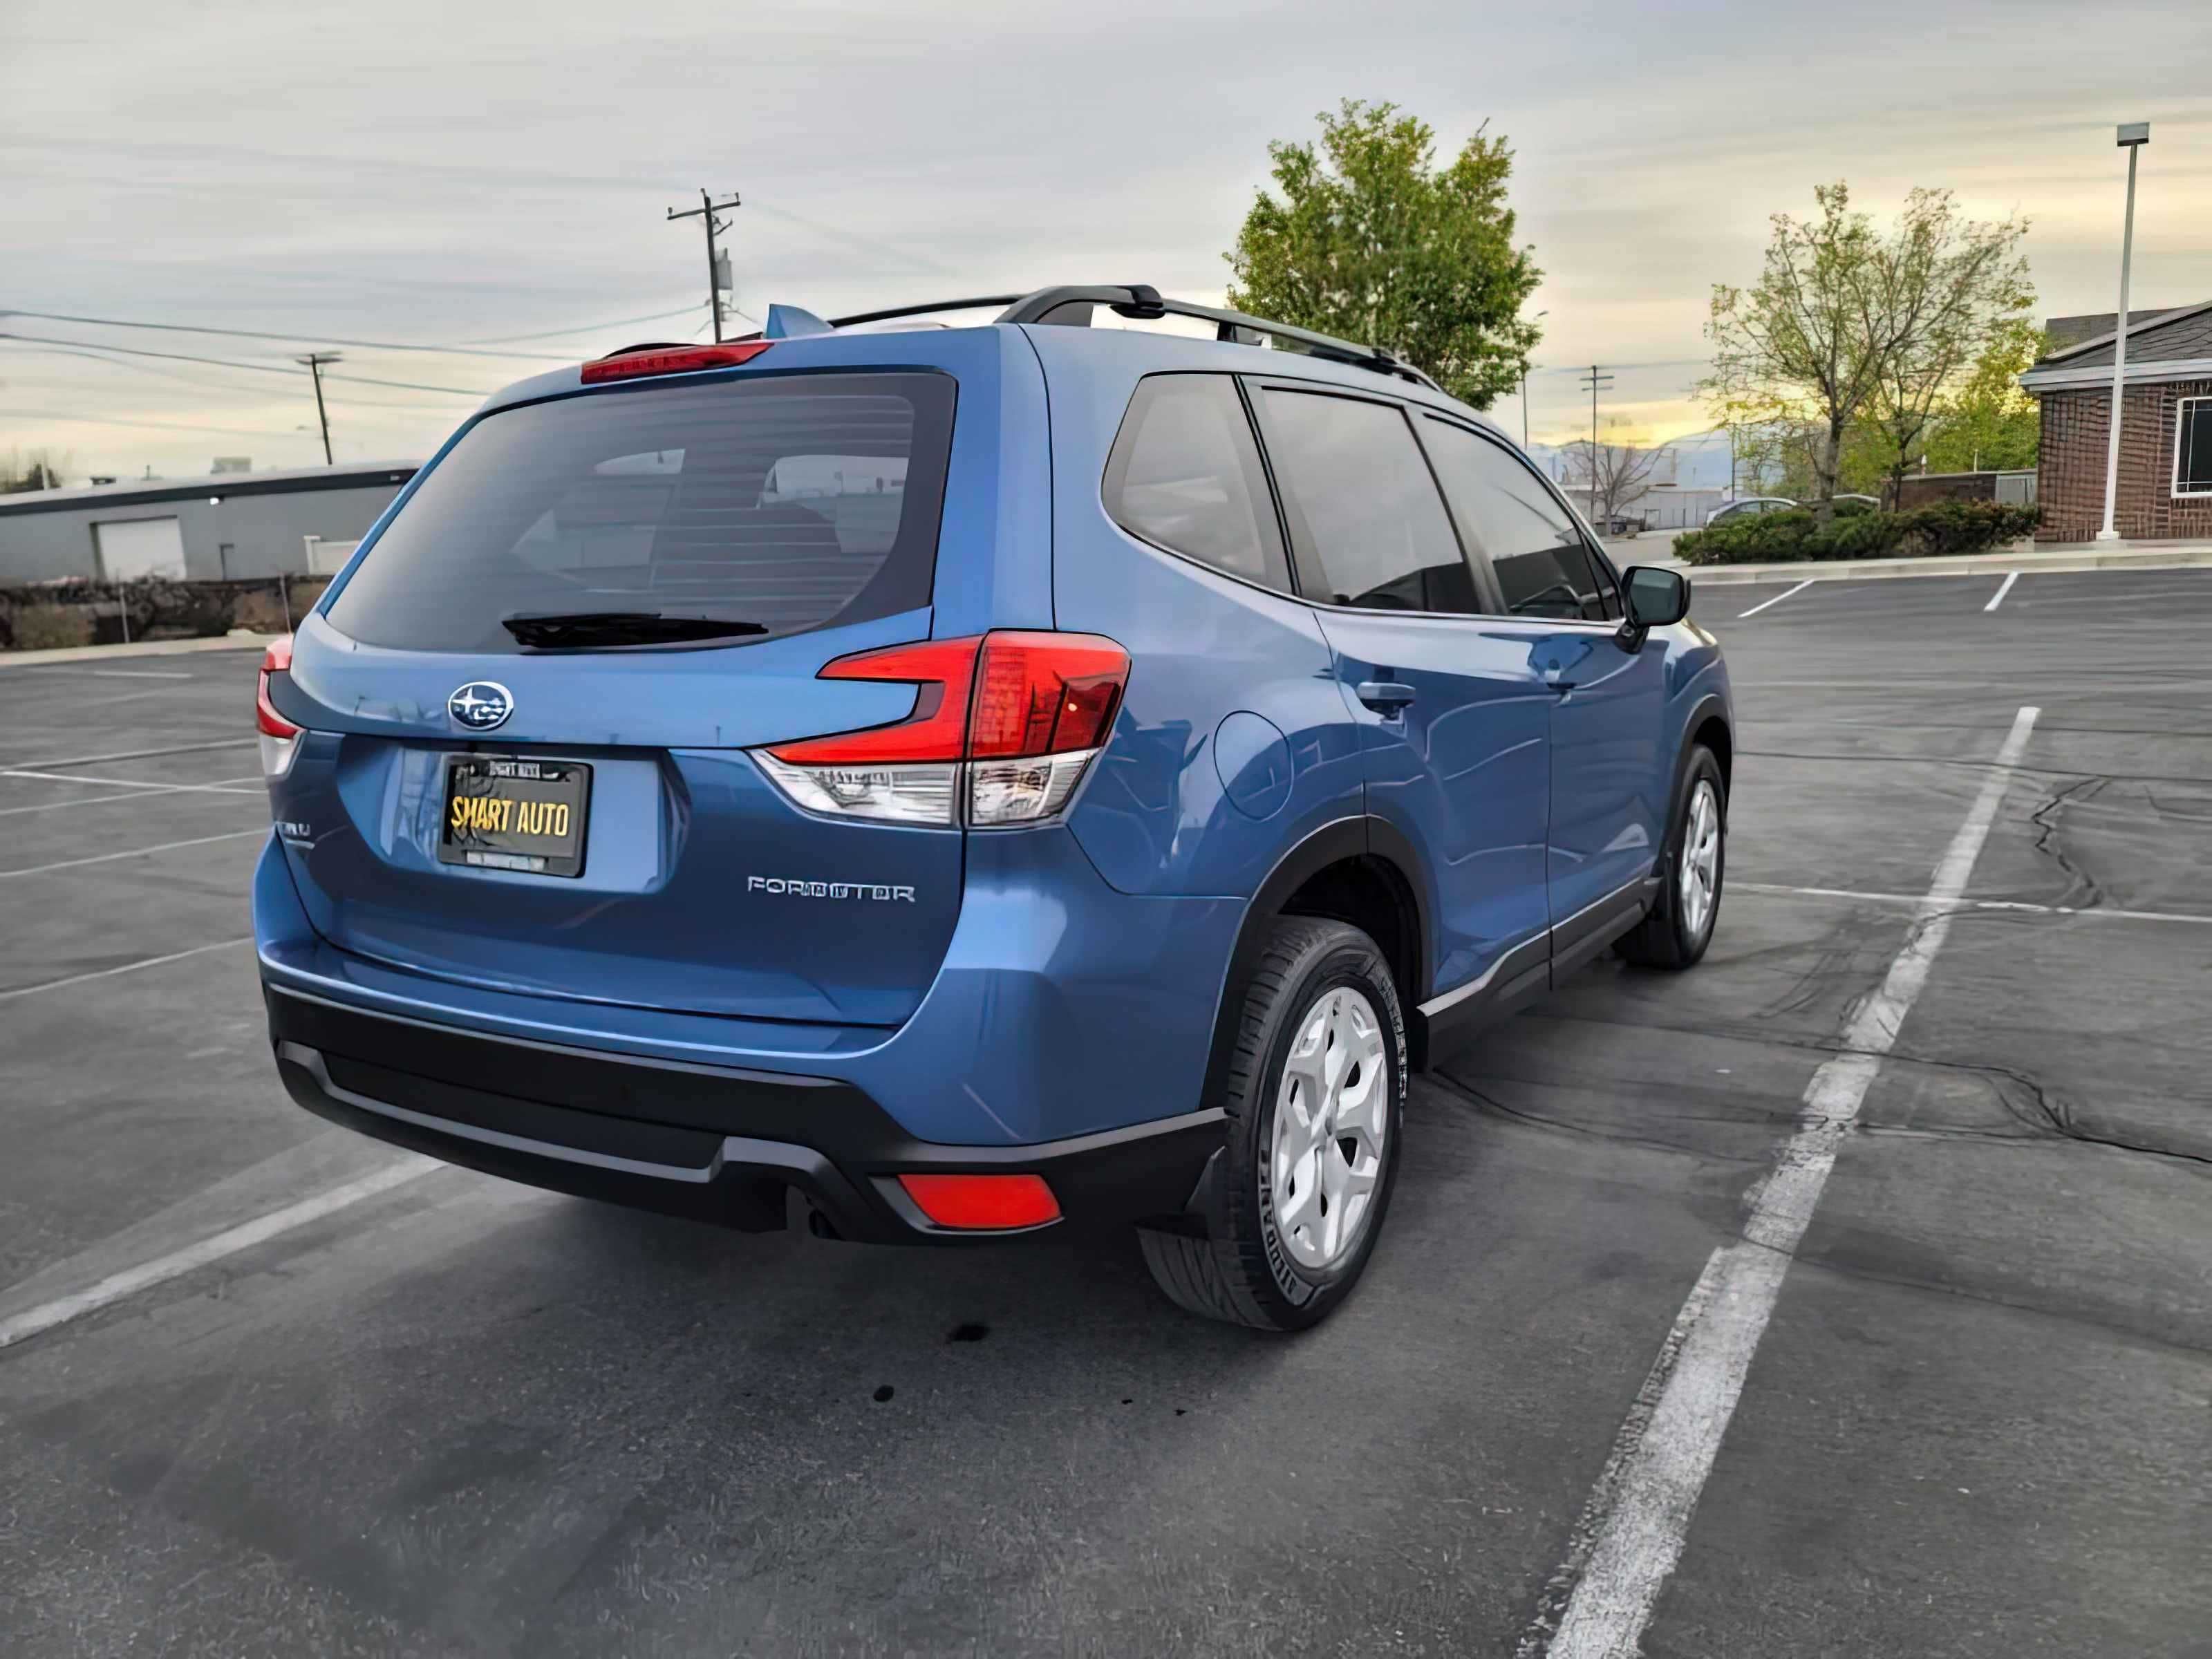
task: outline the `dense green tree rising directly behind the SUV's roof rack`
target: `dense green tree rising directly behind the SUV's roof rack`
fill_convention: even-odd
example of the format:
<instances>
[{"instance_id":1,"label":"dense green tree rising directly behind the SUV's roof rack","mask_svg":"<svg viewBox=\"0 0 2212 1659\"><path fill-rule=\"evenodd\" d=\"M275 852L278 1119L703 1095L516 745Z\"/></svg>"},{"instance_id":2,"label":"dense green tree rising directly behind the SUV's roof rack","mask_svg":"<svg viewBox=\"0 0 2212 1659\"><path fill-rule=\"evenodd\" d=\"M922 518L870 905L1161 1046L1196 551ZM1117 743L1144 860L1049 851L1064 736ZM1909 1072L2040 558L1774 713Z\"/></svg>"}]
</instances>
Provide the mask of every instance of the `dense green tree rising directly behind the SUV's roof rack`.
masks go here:
<instances>
[{"instance_id":1,"label":"dense green tree rising directly behind the SUV's roof rack","mask_svg":"<svg viewBox=\"0 0 2212 1659\"><path fill-rule=\"evenodd\" d=\"M1321 142L1274 142L1237 248L1230 305L1380 345L1486 409L1520 387L1542 332L1520 316L1542 272L1513 246L1513 150L1478 131L1436 166L1436 133L1347 97Z\"/></svg>"}]
</instances>

